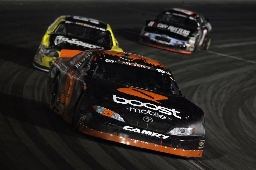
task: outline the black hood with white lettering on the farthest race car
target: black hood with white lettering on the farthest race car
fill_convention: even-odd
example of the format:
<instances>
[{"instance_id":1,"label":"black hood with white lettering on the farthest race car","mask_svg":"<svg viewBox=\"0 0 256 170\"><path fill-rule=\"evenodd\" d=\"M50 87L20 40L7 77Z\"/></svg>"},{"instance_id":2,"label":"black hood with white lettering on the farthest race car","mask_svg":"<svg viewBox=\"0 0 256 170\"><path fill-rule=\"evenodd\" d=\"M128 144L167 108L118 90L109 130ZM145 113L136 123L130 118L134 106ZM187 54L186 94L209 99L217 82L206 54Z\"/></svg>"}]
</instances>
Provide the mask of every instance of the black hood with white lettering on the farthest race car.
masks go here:
<instances>
[{"instance_id":1,"label":"black hood with white lettering on the farthest race car","mask_svg":"<svg viewBox=\"0 0 256 170\"><path fill-rule=\"evenodd\" d=\"M197 31L189 27L181 27L175 23L162 23L158 20L147 20L145 26L147 27L145 31L148 30L148 32L165 34L180 40L189 39L189 37L193 36L192 34Z\"/></svg>"}]
</instances>

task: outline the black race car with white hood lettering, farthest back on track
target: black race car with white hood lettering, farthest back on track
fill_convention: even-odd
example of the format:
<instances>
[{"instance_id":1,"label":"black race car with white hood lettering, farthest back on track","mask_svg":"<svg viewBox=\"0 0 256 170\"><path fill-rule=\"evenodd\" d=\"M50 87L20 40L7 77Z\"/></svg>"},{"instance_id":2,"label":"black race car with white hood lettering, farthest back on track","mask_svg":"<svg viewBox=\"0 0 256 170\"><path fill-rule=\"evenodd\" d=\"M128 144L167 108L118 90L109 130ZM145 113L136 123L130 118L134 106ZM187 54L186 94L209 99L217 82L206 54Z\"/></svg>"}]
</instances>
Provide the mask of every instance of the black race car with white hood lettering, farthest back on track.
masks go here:
<instances>
[{"instance_id":1,"label":"black race car with white hood lettering, farthest back on track","mask_svg":"<svg viewBox=\"0 0 256 170\"><path fill-rule=\"evenodd\" d=\"M147 20L139 42L169 51L191 54L199 48L209 48L211 31L209 20L202 15L173 8L163 11L154 20Z\"/></svg>"}]
</instances>

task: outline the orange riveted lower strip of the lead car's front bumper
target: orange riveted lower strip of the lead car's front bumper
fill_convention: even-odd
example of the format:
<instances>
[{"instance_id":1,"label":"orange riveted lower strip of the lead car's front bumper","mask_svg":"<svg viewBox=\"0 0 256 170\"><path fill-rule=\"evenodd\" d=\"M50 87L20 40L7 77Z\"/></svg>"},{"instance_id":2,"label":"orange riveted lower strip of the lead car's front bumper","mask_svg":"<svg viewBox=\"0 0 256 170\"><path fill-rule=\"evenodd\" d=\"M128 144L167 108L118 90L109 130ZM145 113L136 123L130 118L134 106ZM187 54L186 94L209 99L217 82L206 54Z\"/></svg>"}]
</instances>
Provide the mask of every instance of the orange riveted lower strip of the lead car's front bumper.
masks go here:
<instances>
[{"instance_id":1,"label":"orange riveted lower strip of the lead car's front bumper","mask_svg":"<svg viewBox=\"0 0 256 170\"><path fill-rule=\"evenodd\" d=\"M135 146L135 147L151 149L154 151L170 153L173 155L179 155L179 156L185 156L185 157L202 157L202 153L203 153L203 150L185 150L185 149L171 148L171 147L167 147L167 146L163 146L163 145L157 145L155 143L149 143L149 142L144 142L141 140L130 139L127 137L104 133L104 132L100 132L97 130L93 130L93 129L83 126L81 124L79 125L78 130L82 133L85 133L85 134L88 134L91 136L95 136L95 137L99 137L102 139L111 140L114 142L123 143L126 145Z\"/></svg>"}]
</instances>

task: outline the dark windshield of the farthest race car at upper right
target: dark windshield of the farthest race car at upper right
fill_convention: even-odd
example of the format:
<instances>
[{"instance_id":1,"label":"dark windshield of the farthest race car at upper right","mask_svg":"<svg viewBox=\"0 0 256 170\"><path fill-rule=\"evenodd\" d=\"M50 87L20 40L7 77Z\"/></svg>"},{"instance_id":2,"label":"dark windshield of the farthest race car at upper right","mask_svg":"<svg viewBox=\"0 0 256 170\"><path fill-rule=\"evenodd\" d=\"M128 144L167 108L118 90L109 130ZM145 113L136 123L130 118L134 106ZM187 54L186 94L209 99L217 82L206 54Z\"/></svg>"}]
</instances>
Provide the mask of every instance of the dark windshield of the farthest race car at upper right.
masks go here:
<instances>
[{"instance_id":1,"label":"dark windshield of the farthest race car at upper right","mask_svg":"<svg viewBox=\"0 0 256 170\"><path fill-rule=\"evenodd\" d=\"M161 14L157 17L157 20L165 23L178 24L180 26L189 27L192 29L196 29L198 27L197 22L195 20L173 14Z\"/></svg>"}]
</instances>

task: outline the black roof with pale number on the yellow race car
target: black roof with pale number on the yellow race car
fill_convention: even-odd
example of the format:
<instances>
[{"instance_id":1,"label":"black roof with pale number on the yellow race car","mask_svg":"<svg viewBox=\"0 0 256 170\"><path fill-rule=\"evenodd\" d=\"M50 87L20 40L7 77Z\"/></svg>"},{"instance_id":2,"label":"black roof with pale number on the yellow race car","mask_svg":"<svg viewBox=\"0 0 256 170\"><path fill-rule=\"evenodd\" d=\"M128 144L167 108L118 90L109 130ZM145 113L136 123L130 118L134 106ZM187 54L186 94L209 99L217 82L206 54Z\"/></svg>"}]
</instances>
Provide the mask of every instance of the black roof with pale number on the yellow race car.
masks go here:
<instances>
[{"instance_id":1,"label":"black roof with pale number on the yellow race car","mask_svg":"<svg viewBox=\"0 0 256 170\"><path fill-rule=\"evenodd\" d=\"M105 22L102 22L97 19L81 17L81 16L67 15L66 21L90 24L90 25L97 26L97 27L104 28L104 29L106 29L108 27L108 24Z\"/></svg>"}]
</instances>

